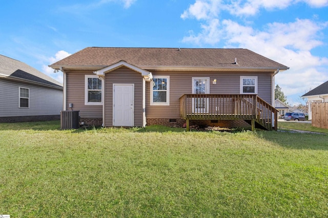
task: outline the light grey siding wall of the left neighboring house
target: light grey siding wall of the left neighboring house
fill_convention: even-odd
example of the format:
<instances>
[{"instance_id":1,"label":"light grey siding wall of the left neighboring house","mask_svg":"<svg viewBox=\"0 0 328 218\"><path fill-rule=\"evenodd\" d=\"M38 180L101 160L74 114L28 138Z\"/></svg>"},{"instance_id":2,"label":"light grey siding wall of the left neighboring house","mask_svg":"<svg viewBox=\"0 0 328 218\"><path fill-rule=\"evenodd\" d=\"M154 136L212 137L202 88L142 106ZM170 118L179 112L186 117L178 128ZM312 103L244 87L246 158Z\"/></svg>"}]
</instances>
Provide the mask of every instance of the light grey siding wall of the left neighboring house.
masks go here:
<instances>
[{"instance_id":1,"label":"light grey siding wall of the left neighboring house","mask_svg":"<svg viewBox=\"0 0 328 218\"><path fill-rule=\"evenodd\" d=\"M29 108L19 108L19 87L29 88ZM0 79L0 116L59 115L63 91Z\"/></svg>"}]
</instances>

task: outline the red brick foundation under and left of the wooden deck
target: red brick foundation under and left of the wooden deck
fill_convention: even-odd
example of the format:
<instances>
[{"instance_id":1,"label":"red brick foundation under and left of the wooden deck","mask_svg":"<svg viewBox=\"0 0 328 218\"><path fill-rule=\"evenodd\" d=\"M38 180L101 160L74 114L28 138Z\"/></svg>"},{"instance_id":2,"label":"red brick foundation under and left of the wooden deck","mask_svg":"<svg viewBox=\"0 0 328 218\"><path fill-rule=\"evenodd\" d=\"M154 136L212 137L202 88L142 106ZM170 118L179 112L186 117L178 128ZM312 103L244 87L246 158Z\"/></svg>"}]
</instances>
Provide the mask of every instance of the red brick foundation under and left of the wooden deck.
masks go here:
<instances>
[{"instance_id":1,"label":"red brick foundation under and left of the wooden deck","mask_svg":"<svg viewBox=\"0 0 328 218\"><path fill-rule=\"evenodd\" d=\"M175 121L176 122L172 122ZM171 122L170 122L171 121ZM147 119L147 126L151 125L163 125L168 127L182 127L186 123L185 119L164 119L164 118L149 118ZM244 120L190 120L190 126L210 126L210 127L225 127L225 128L237 128L244 127L248 128L250 125Z\"/></svg>"}]
</instances>

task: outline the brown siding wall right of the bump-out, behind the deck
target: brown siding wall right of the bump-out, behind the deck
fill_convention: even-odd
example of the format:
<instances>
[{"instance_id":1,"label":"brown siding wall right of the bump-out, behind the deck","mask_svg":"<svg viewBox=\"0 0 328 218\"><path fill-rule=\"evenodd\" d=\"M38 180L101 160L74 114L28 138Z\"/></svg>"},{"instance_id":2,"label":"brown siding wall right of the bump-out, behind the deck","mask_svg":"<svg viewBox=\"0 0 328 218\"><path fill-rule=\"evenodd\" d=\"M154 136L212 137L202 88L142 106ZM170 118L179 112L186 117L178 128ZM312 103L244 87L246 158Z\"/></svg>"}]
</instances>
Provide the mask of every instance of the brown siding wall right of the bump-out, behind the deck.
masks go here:
<instances>
[{"instance_id":1,"label":"brown siding wall right of the bump-out, behind the deck","mask_svg":"<svg viewBox=\"0 0 328 218\"><path fill-rule=\"evenodd\" d=\"M192 77L209 77L211 94L239 94L240 76L258 77L258 95L271 104L271 73L268 72L165 72L153 71L153 76L170 76L170 106L150 105L150 85L146 82L147 118L180 118L180 100L183 94L192 93ZM216 85L212 81L216 79Z\"/></svg>"}]
</instances>

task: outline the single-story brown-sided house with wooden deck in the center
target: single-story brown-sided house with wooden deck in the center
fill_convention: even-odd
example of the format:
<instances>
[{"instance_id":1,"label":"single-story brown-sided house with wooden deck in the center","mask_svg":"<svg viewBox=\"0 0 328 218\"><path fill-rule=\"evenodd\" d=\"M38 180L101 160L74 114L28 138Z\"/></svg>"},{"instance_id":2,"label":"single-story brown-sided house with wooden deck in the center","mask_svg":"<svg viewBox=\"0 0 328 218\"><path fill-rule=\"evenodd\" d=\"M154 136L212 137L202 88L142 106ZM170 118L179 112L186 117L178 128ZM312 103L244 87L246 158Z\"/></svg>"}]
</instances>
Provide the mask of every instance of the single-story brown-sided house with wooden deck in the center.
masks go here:
<instances>
[{"instance_id":1,"label":"single-story brown-sided house with wooden deck in the center","mask_svg":"<svg viewBox=\"0 0 328 218\"><path fill-rule=\"evenodd\" d=\"M274 126L274 76L289 67L247 49L87 47L64 72L64 110L104 127ZM277 125L275 125L276 128Z\"/></svg>"}]
</instances>

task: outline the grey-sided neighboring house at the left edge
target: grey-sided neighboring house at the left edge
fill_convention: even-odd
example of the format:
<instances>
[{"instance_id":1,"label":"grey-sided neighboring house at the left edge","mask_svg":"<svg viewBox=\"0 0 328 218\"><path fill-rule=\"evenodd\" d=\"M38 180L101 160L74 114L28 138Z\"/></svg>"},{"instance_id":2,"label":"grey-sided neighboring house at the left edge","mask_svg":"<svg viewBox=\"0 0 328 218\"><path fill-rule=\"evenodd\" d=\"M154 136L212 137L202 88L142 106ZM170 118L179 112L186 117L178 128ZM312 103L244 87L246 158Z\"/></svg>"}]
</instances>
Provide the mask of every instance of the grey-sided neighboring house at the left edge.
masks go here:
<instances>
[{"instance_id":1,"label":"grey-sided neighboring house at the left edge","mask_svg":"<svg viewBox=\"0 0 328 218\"><path fill-rule=\"evenodd\" d=\"M0 122L60 118L63 86L35 68L0 55Z\"/></svg>"}]
</instances>

